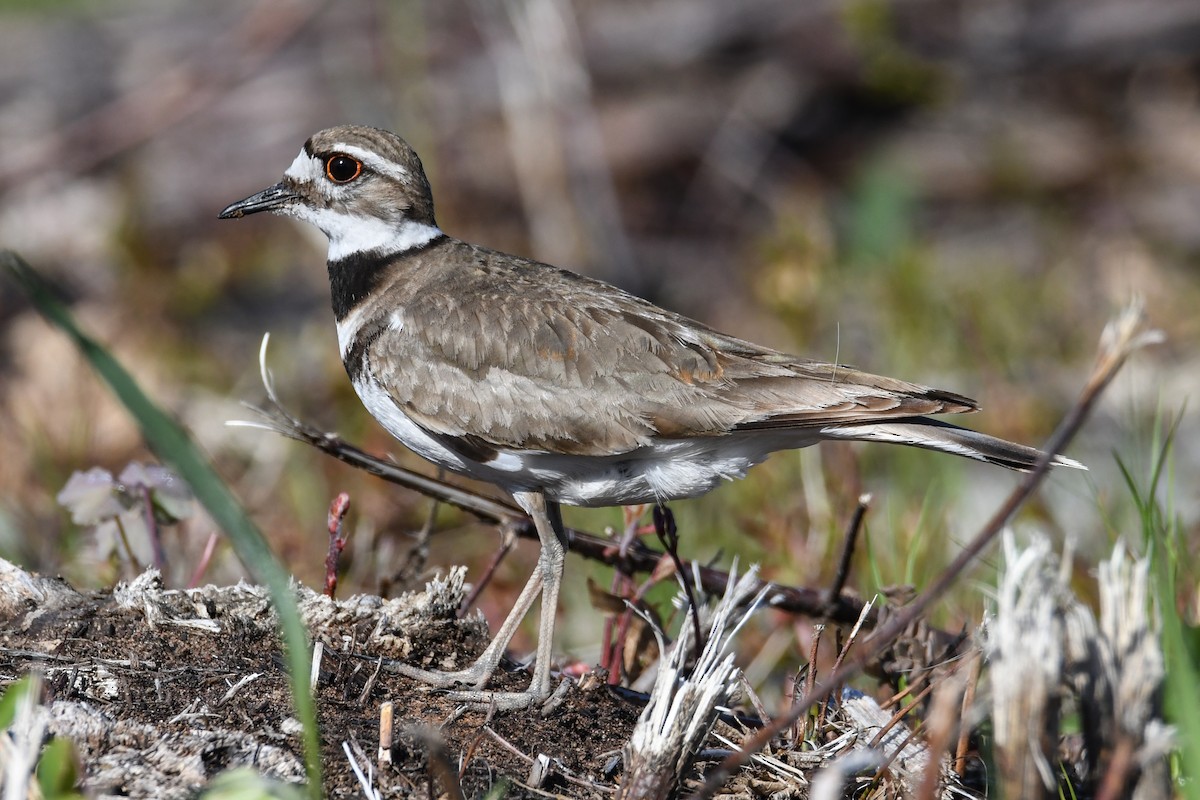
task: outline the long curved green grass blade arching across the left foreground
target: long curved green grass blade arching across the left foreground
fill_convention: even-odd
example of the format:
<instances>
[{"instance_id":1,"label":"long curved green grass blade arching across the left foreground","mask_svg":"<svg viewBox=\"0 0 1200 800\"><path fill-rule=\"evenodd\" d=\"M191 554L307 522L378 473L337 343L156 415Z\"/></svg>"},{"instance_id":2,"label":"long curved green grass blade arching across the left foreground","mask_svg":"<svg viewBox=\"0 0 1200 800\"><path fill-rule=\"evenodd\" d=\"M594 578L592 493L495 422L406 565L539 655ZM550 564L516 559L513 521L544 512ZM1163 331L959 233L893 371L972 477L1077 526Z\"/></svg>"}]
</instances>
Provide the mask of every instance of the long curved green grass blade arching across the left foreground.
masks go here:
<instances>
[{"instance_id":1,"label":"long curved green grass blade arching across the left foreground","mask_svg":"<svg viewBox=\"0 0 1200 800\"><path fill-rule=\"evenodd\" d=\"M76 324L67 307L55 297L46 281L24 259L12 251L0 251L0 269L16 278L38 312L67 335L96 373L108 384L118 399L142 429L146 444L187 481L196 498L212 519L229 536L234 552L256 581L271 593L280 615L283 640L287 644L288 672L296 717L305 730L305 760L308 775L308 795L319 798L320 741L312 692L308 688L310 649L300 612L289 585L289 576L266 545L266 540L246 515L241 504L209 464L209 459L192 441L184 427L154 403L137 385L132 375L98 342Z\"/></svg>"}]
</instances>

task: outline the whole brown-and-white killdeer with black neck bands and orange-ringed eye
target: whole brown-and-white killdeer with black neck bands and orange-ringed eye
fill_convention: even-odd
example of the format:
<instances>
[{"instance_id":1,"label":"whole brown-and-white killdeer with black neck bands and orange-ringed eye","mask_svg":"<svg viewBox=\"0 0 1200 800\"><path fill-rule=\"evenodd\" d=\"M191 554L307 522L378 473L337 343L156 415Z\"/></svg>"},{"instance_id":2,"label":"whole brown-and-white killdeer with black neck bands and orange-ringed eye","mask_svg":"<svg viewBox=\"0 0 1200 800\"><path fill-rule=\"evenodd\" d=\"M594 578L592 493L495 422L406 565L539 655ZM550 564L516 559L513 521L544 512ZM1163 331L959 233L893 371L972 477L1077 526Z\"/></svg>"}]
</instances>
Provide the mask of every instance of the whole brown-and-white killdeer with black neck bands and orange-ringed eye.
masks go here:
<instances>
[{"instance_id":1,"label":"whole brown-and-white killdeer with black neck bands and orange-ringed eye","mask_svg":"<svg viewBox=\"0 0 1200 800\"><path fill-rule=\"evenodd\" d=\"M329 237L337 342L367 410L434 464L506 489L534 521L538 566L479 660L454 673L402 670L473 687L456 693L462 700L512 709L550 696L559 504L690 498L776 450L822 439L1018 470L1042 456L925 416L978 409L961 395L779 353L606 283L454 239L438 228L416 154L388 131L314 134L281 182L220 217L259 211ZM484 691L539 594L528 691Z\"/></svg>"}]
</instances>

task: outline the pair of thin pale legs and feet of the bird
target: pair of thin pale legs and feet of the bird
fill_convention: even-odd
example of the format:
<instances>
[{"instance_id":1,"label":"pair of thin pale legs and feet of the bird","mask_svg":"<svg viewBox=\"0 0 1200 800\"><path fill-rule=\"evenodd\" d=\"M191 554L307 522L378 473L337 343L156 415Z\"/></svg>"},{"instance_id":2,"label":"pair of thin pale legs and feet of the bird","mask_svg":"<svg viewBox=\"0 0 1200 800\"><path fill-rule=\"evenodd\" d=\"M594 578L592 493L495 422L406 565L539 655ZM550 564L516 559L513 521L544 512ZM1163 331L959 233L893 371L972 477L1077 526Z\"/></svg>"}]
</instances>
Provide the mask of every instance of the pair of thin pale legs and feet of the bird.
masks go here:
<instances>
[{"instance_id":1,"label":"pair of thin pale legs and feet of the bird","mask_svg":"<svg viewBox=\"0 0 1200 800\"><path fill-rule=\"evenodd\" d=\"M558 504L546 499L541 492L514 492L512 499L533 518L541 551L538 553L538 566L534 567L529 582L517 596L512 610L496 632L491 644L480 654L470 667L456 672L433 672L410 664L396 664L395 670L415 680L449 688L451 686L473 686L472 691L451 692L451 699L463 703L494 704L498 710L529 708L542 703L550 697L550 662L554 646L554 614L558 610L558 590L563 583L563 566L566 560L565 534L563 517ZM492 692L484 686L504 657L509 642L516 634L521 621L533 607L538 595L541 595L541 618L538 625L538 652L533 663L533 680L524 692Z\"/></svg>"}]
</instances>

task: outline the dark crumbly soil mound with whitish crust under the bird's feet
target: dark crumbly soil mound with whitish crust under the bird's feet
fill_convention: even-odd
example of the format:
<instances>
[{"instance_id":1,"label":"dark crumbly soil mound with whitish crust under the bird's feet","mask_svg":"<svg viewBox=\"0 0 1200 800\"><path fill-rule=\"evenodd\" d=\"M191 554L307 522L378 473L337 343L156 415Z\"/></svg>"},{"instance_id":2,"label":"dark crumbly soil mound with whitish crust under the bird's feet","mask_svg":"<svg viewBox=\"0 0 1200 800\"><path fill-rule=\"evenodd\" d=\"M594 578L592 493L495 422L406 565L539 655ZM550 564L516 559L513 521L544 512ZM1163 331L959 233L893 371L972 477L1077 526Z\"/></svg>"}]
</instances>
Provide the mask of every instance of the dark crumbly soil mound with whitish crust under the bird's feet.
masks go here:
<instances>
[{"instance_id":1,"label":"dark crumbly soil mound with whitish crust under the bird's feet","mask_svg":"<svg viewBox=\"0 0 1200 800\"><path fill-rule=\"evenodd\" d=\"M304 778L300 726L264 590L163 590L148 572L112 591L80 594L7 564L0 578L0 673L41 672L48 729L76 741L90 795L194 796L234 766ZM505 798L607 794L601 787L611 790L641 709L602 681L572 688L548 717L490 718L382 668L390 658L469 663L486 626L456 618L461 597L461 573L397 600L334 602L298 589L312 636L324 643L316 692L324 794L362 796L343 742L360 753L364 771L377 770L384 798L443 795L440 783L455 780L443 768L468 798L486 795L502 777L511 781ZM510 672L493 686L527 681ZM385 702L395 709L390 765L377 759ZM532 777L539 756L550 770Z\"/></svg>"}]
</instances>

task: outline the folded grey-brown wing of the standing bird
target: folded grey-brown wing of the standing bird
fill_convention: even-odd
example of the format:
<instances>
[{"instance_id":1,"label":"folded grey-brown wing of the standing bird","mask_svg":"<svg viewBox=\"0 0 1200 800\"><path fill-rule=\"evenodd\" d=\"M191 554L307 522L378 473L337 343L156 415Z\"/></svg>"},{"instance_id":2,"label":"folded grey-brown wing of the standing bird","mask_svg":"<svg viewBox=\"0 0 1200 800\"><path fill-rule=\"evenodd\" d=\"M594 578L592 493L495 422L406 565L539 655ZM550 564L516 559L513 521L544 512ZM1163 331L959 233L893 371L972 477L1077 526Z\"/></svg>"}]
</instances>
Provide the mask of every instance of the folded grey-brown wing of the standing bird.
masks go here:
<instances>
[{"instance_id":1,"label":"folded grey-brown wing of the standing bird","mask_svg":"<svg viewBox=\"0 0 1200 800\"><path fill-rule=\"evenodd\" d=\"M976 409L959 395L725 336L571 272L462 247L470 269L414 285L367 363L414 421L476 447L607 456L655 437Z\"/></svg>"}]
</instances>

